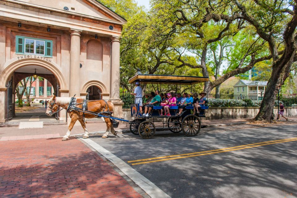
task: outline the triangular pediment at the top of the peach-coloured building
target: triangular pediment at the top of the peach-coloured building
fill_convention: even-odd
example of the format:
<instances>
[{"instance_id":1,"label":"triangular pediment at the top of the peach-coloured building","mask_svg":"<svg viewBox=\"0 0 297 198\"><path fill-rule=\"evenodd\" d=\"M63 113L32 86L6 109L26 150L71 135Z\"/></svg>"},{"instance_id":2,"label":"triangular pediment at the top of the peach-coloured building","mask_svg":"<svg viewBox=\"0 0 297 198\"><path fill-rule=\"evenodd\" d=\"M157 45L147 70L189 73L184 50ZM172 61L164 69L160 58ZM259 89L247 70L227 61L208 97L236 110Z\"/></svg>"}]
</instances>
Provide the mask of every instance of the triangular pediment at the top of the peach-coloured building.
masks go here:
<instances>
[{"instance_id":1,"label":"triangular pediment at the top of the peach-coloured building","mask_svg":"<svg viewBox=\"0 0 297 198\"><path fill-rule=\"evenodd\" d=\"M8 4L6 3L5 5L22 7L28 10L30 8L38 8L38 11L43 13L44 11L51 11L53 15L56 15L56 13L59 13L59 15L74 15L120 25L126 22L123 17L96 0L0 0L0 2L2 4L7 2ZM14 3L15 5L13 5Z\"/></svg>"}]
</instances>

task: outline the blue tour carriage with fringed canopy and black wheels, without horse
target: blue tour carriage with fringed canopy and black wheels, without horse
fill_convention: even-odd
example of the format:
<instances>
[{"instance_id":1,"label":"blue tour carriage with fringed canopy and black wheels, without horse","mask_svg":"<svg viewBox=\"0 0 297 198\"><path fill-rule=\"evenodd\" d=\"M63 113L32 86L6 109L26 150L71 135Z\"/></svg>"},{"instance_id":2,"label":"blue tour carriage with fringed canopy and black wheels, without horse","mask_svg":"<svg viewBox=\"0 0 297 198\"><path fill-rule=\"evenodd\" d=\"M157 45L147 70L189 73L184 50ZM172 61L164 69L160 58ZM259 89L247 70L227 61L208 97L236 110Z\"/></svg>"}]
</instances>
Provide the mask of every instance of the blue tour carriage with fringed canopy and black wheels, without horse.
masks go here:
<instances>
[{"instance_id":1,"label":"blue tour carriage with fringed canopy and black wheels, without horse","mask_svg":"<svg viewBox=\"0 0 297 198\"><path fill-rule=\"evenodd\" d=\"M155 75L155 74L136 74L129 79L129 83L140 81L141 84L162 84L167 85L192 85L209 81L208 77L194 76L173 76L173 75ZM176 115L178 106L170 107L170 117L160 115L162 106L154 106L149 117L141 115L139 112L139 104L131 105L131 117L133 121L129 121L130 131L133 134L139 134L144 139L151 139L155 135L156 129L169 129L173 133L183 131L186 136L195 136L201 129L201 118L205 117L205 110L208 106L200 108L199 114L193 114L194 106L189 105L181 115Z\"/></svg>"}]
</instances>

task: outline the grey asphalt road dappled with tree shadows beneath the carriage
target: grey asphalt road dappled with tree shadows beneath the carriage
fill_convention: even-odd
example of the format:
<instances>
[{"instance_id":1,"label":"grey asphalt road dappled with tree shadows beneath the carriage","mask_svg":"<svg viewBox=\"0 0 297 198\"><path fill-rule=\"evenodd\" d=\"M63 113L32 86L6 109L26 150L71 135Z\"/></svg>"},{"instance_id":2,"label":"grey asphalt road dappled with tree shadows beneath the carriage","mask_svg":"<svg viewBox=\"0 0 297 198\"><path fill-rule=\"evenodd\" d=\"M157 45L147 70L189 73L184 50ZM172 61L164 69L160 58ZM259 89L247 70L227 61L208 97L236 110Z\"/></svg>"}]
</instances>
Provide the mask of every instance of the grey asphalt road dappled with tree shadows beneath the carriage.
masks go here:
<instances>
[{"instance_id":1,"label":"grey asphalt road dappled with tree shadows beneath the carriage","mask_svg":"<svg viewBox=\"0 0 297 198\"><path fill-rule=\"evenodd\" d=\"M196 137L159 131L153 139L91 139L129 165L144 162L131 167L172 198L289 198L297 197L297 139L291 138L297 138L295 124L204 128Z\"/></svg>"}]
</instances>

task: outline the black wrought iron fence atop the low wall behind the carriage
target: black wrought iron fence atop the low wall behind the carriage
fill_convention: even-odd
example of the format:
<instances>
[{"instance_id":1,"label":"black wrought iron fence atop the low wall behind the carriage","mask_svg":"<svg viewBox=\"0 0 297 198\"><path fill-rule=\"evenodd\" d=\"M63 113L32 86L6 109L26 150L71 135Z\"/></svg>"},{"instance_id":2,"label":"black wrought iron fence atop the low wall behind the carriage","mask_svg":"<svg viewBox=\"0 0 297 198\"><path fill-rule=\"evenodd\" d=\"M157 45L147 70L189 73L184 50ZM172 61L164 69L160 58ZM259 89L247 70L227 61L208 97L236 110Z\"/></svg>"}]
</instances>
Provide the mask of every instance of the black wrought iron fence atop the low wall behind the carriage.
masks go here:
<instances>
[{"instance_id":1,"label":"black wrought iron fence atop the low wall behind the carriage","mask_svg":"<svg viewBox=\"0 0 297 198\"><path fill-rule=\"evenodd\" d=\"M260 107L264 95L242 95L242 94L208 94L206 95L209 107ZM134 103L134 96L129 92L121 92L123 108L130 108ZM285 107L297 107L297 96L279 96L279 102ZM278 97L274 106L278 106Z\"/></svg>"}]
</instances>

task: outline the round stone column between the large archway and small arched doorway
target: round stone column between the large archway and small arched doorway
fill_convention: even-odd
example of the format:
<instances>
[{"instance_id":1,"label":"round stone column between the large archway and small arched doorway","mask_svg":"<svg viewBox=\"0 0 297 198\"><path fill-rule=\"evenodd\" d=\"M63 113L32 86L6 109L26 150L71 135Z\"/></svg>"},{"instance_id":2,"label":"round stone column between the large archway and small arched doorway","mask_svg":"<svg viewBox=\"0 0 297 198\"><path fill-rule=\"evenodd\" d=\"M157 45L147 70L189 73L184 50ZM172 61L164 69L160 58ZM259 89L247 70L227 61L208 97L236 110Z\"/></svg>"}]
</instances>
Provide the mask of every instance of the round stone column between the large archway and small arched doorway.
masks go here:
<instances>
[{"instance_id":1,"label":"round stone column between the large archway and small arched doorway","mask_svg":"<svg viewBox=\"0 0 297 198\"><path fill-rule=\"evenodd\" d=\"M80 30L70 31L70 84L69 96L80 97Z\"/></svg>"}]
</instances>

